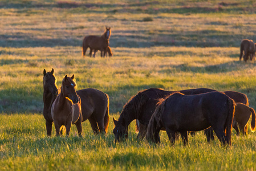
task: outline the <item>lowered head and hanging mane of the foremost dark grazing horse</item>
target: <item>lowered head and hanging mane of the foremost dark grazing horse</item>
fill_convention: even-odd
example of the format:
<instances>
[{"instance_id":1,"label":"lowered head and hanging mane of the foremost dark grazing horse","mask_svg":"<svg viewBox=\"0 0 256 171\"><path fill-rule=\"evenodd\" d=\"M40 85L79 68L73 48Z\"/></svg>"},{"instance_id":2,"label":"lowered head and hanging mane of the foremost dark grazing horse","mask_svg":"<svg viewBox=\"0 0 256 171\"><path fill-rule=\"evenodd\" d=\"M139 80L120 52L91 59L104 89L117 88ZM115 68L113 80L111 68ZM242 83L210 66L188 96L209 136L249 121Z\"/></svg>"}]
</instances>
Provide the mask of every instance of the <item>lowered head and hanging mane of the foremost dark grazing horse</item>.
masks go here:
<instances>
[{"instance_id":1,"label":"lowered head and hanging mane of the foremost dark grazing horse","mask_svg":"<svg viewBox=\"0 0 256 171\"><path fill-rule=\"evenodd\" d=\"M156 107L155 112L151 116L151 119L149 120L147 133L146 133L146 139L149 142L159 143L159 141L160 141L160 139L156 140L157 137L159 137L159 135L156 135L158 133L156 130L160 124L160 117L164 110L165 102L166 102L166 100L160 102L160 104Z\"/></svg>"}]
</instances>

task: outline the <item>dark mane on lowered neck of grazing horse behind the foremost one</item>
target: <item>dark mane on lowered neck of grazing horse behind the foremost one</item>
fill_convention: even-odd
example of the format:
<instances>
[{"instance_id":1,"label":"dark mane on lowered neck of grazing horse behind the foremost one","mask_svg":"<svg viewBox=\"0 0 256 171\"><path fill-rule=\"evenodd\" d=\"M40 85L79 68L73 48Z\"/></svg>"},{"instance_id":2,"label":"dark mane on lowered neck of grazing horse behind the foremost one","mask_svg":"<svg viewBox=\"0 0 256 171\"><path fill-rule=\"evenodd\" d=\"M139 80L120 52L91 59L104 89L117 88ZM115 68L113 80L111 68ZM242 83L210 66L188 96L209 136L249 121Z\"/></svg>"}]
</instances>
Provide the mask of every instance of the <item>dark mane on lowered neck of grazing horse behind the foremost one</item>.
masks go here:
<instances>
[{"instance_id":1,"label":"dark mane on lowered neck of grazing horse behind the foremost one","mask_svg":"<svg viewBox=\"0 0 256 171\"><path fill-rule=\"evenodd\" d=\"M124 122L124 120L127 120L129 119L129 117L132 117L131 111L132 113L134 113L136 119L137 116L139 116L141 106L145 104L147 100L148 96L144 93L144 91L141 91L137 93L137 95L132 96L131 99L129 99L129 101L124 105L118 121Z\"/></svg>"}]
</instances>

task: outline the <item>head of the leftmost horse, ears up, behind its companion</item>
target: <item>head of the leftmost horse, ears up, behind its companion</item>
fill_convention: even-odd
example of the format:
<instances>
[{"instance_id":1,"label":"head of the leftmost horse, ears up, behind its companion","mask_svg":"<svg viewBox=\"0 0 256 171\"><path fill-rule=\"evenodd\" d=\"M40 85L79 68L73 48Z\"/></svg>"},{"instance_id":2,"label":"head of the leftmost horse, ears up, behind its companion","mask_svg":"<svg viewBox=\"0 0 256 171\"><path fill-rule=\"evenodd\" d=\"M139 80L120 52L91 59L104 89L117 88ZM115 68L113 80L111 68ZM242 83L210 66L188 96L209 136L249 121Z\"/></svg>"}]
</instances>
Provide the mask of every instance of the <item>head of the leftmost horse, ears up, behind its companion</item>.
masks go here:
<instances>
[{"instance_id":1,"label":"head of the leftmost horse, ears up, behind its companion","mask_svg":"<svg viewBox=\"0 0 256 171\"><path fill-rule=\"evenodd\" d=\"M54 68L52 68L51 72L46 72L43 70L43 89L46 92L51 92L52 95L58 95L58 88L56 85L56 78L54 76Z\"/></svg>"}]
</instances>

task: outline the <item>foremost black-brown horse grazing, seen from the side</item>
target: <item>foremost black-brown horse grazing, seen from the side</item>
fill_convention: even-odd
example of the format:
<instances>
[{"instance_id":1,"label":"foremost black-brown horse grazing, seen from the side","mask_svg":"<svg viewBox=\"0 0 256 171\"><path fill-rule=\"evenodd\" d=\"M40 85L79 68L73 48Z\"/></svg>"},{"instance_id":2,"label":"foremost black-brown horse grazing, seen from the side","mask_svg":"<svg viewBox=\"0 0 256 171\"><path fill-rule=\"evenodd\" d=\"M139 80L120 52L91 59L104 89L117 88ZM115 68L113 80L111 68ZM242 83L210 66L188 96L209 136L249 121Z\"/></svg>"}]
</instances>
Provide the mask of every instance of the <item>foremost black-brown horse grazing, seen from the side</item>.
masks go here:
<instances>
[{"instance_id":1,"label":"foremost black-brown horse grazing, seen from the side","mask_svg":"<svg viewBox=\"0 0 256 171\"><path fill-rule=\"evenodd\" d=\"M184 145L188 143L188 131L202 131L212 127L218 139L231 145L231 129L235 111L234 100L221 92L198 95L173 93L162 99L148 124L146 139L160 143L159 132L165 128L170 142L180 132Z\"/></svg>"}]
</instances>

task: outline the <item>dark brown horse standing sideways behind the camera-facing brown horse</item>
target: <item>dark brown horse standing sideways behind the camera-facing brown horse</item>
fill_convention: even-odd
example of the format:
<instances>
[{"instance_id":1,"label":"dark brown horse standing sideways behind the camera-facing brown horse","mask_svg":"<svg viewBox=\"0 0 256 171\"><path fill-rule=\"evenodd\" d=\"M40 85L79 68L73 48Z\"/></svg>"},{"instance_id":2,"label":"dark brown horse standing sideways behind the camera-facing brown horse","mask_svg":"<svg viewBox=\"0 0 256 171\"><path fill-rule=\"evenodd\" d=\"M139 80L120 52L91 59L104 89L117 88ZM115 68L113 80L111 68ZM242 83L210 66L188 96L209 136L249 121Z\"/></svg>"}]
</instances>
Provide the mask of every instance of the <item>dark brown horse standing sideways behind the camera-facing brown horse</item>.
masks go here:
<instances>
[{"instance_id":1,"label":"dark brown horse standing sideways behind the camera-facing brown horse","mask_svg":"<svg viewBox=\"0 0 256 171\"><path fill-rule=\"evenodd\" d=\"M47 135L51 136L53 119L51 106L58 95L54 69L51 72L44 70L44 109L43 115L46 119ZM107 133L109 125L109 97L106 93L94 88L80 89L76 92L81 99L82 121L90 121L94 134Z\"/></svg>"}]
</instances>

